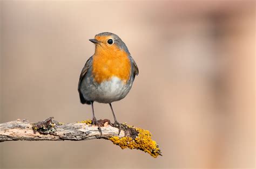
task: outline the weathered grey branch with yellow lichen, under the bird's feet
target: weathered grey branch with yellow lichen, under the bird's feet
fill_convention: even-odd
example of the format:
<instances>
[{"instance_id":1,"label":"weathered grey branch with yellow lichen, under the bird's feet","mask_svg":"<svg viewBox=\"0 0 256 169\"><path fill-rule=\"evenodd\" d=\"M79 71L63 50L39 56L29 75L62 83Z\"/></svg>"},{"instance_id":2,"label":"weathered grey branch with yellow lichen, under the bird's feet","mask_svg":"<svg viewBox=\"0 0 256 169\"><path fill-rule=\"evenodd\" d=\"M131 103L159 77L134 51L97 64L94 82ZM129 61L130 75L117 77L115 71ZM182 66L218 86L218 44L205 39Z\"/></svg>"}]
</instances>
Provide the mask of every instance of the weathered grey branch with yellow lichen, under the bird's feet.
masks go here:
<instances>
[{"instance_id":1,"label":"weathered grey branch with yellow lichen, under the bird's feet","mask_svg":"<svg viewBox=\"0 0 256 169\"><path fill-rule=\"evenodd\" d=\"M37 123L29 123L23 119L0 124L0 142L14 140L89 140L103 138L111 140L122 149L139 149L156 158L161 155L158 144L151 139L147 130L122 124L118 135L118 127L110 123L109 119L99 120L102 135L98 126L92 125L91 120L78 123L62 124L53 117Z\"/></svg>"}]
</instances>

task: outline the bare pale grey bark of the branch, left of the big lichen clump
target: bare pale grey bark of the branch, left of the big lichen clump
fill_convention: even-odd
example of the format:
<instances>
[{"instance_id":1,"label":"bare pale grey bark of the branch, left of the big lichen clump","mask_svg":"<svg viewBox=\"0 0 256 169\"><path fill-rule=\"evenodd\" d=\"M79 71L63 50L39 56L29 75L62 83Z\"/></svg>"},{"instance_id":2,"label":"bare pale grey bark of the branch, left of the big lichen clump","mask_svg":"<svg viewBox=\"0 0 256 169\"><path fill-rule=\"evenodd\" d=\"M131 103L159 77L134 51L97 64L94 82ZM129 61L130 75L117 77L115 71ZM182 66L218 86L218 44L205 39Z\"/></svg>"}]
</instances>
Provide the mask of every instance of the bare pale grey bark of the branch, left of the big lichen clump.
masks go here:
<instances>
[{"instance_id":1,"label":"bare pale grey bark of the branch, left of the big lichen clump","mask_svg":"<svg viewBox=\"0 0 256 169\"><path fill-rule=\"evenodd\" d=\"M104 123L105 122L105 123ZM98 126L86 123L61 124L48 118L43 122L30 123L27 120L11 121L0 124L0 142L14 140L89 140L108 139L118 135L118 128L109 124L108 120L100 122L102 135ZM41 125L41 126L40 126ZM121 130L118 137L124 137Z\"/></svg>"}]
</instances>

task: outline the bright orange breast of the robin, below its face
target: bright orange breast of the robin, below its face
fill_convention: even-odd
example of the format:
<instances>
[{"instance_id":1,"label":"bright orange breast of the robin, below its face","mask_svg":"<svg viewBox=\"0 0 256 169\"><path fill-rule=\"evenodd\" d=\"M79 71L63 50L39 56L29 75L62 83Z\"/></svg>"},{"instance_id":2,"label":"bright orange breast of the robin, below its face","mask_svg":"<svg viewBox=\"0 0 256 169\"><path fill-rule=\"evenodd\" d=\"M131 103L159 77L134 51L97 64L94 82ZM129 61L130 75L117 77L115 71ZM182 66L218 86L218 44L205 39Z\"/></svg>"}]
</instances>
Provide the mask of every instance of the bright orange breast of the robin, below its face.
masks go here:
<instances>
[{"instance_id":1,"label":"bright orange breast of the robin, below its face","mask_svg":"<svg viewBox=\"0 0 256 169\"><path fill-rule=\"evenodd\" d=\"M103 50L101 46L96 47L92 61L92 75L96 82L101 83L116 76L126 83L130 73L131 62L125 51L114 46L111 50Z\"/></svg>"}]
</instances>

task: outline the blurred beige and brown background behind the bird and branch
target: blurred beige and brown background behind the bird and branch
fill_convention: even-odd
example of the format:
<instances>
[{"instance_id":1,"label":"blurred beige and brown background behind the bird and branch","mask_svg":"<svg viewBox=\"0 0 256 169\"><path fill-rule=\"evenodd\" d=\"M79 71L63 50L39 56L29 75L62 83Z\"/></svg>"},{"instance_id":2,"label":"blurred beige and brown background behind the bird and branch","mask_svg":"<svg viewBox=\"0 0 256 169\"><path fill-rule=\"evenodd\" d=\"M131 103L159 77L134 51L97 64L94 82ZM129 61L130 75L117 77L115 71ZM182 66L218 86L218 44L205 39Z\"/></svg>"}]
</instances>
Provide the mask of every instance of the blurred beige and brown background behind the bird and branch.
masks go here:
<instances>
[{"instance_id":1,"label":"blurred beige and brown background behind the bird and branch","mask_svg":"<svg viewBox=\"0 0 256 169\"><path fill-rule=\"evenodd\" d=\"M100 32L139 67L113 108L163 157L106 140L0 143L0 168L254 168L254 1L0 1L0 122L91 119L78 78ZM98 119L113 122L107 104Z\"/></svg>"}]
</instances>

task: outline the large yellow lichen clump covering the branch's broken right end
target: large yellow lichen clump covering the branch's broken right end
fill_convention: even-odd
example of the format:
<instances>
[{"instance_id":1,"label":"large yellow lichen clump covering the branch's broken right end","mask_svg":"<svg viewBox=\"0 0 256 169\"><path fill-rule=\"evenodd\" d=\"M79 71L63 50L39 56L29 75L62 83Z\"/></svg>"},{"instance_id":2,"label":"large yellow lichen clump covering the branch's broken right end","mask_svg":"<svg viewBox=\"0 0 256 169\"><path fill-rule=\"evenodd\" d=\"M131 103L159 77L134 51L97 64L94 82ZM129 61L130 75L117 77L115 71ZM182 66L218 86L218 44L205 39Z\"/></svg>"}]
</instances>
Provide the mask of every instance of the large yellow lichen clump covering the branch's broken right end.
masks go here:
<instances>
[{"instance_id":1,"label":"large yellow lichen clump covering the branch's broken right end","mask_svg":"<svg viewBox=\"0 0 256 169\"><path fill-rule=\"evenodd\" d=\"M128 126L131 128L130 126ZM138 132L136 138L132 137L122 137L118 136L110 137L109 139L116 145L119 145L122 149L139 149L144 152L149 153L152 157L157 158L161 155L161 151L157 143L151 139L151 133L148 130L134 128Z\"/></svg>"}]
</instances>

